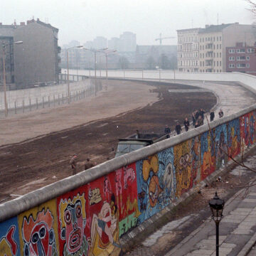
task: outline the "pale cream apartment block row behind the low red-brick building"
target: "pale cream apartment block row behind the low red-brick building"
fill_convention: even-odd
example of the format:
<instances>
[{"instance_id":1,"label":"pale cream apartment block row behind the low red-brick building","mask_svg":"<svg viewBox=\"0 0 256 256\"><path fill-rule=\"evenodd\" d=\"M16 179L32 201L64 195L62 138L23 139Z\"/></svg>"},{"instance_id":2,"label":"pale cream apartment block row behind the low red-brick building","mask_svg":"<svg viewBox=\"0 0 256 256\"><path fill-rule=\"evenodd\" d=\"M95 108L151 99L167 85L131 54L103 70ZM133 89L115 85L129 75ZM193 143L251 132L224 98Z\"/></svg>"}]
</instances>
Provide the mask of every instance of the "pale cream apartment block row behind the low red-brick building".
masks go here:
<instances>
[{"instance_id":1,"label":"pale cream apartment block row behind the low red-brick building","mask_svg":"<svg viewBox=\"0 0 256 256\"><path fill-rule=\"evenodd\" d=\"M198 50L191 46L193 29L196 31L194 37L198 40L195 42ZM238 22L206 25L206 28L184 29L177 33L178 70L184 72L226 72L226 48L235 46L238 42L253 46L256 41L256 28ZM198 58L193 58L196 53ZM196 60L198 65L193 66Z\"/></svg>"}]
</instances>

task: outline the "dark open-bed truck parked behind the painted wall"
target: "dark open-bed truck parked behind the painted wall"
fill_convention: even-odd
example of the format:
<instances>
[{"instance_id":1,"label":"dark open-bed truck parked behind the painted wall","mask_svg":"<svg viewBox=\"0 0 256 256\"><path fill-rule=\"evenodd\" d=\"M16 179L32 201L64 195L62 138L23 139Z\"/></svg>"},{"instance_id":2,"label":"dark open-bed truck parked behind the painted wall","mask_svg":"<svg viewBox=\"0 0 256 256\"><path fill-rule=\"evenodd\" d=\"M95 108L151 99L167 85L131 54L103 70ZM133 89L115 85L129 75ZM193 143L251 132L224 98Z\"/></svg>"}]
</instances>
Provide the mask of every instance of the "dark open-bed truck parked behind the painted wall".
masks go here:
<instances>
[{"instance_id":1,"label":"dark open-bed truck parked behind the painted wall","mask_svg":"<svg viewBox=\"0 0 256 256\"><path fill-rule=\"evenodd\" d=\"M161 140L169 138L169 134L139 133L132 134L125 139L119 139L117 152L114 157L122 156L137 149L142 149Z\"/></svg>"}]
</instances>

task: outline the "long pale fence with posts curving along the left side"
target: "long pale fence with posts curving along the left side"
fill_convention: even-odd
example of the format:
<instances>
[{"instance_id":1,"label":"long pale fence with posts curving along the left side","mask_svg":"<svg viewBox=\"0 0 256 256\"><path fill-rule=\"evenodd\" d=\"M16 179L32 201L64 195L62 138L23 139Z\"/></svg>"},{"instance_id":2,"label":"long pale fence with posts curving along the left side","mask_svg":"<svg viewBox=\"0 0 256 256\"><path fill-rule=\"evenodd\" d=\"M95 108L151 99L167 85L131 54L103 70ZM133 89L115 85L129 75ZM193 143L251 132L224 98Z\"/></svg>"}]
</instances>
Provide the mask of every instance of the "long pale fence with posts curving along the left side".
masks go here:
<instances>
[{"instance_id":1,"label":"long pale fence with posts curving along the left side","mask_svg":"<svg viewBox=\"0 0 256 256\"><path fill-rule=\"evenodd\" d=\"M77 81L70 80L70 95L68 95L67 83L7 91L7 116L33 112L48 107L58 107L86 97L94 97L97 92L102 90L102 81L99 79L77 80L78 78L74 75L70 78ZM60 82L65 81L60 80ZM0 118L4 117L4 92L0 92Z\"/></svg>"}]
</instances>

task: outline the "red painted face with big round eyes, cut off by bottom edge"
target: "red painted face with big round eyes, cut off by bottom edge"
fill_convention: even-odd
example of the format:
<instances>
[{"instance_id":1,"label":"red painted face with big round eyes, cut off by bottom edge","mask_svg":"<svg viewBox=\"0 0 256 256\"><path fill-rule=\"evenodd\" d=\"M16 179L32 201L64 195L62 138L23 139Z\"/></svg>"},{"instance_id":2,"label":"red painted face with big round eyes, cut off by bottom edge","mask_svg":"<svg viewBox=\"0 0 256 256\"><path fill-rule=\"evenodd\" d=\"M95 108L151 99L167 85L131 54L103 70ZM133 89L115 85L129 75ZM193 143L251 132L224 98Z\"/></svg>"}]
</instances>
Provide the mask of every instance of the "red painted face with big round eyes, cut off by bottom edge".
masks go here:
<instances>
[{"instance_id":1,"label":"red painted face with big round eyes, cut off by bottom edge","mask_svg":"<svg viewBox=\"0 0 256 256\"><path fill-rule=\"evenodd\" d=\"M51 255L50 250L50 241L53 240L54 234L52 231L48 231L46 223L38 223L34 226L31 231L31 238L29 243L24 245L24 255L28 256L47 256Z\"/></svg>"}]
</instances>

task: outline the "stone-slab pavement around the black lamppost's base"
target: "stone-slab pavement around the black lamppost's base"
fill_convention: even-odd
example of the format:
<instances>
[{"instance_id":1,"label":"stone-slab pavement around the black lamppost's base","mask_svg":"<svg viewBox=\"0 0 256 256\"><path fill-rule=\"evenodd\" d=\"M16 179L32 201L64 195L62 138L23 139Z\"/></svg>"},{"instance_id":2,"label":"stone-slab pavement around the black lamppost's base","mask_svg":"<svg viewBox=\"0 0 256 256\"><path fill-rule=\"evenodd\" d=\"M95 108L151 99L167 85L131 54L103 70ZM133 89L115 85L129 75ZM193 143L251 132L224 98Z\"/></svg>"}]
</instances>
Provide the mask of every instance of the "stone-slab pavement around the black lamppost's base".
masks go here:
<instances>
[{"instance_id":1,"label":"stone-slab pavement around the black lamppost's base","mask_svg":"<svg viewBox=\"0 0 256 256\"><path fill-rule=\"evenodd\" d=\"M256 156L247 164L256 162ZM240 166L236 167L240 169ZM238 191L225 203L224 218L220 222L220 256L246 255L256 241L256 186L245 195ZM215 255L215 223L211 218L188 235L166 256ZM253 255L253 254L252 254ZM256 254L254 254L256 255Z\"/></svg>"}]
</instances>

